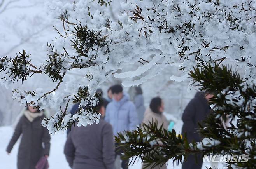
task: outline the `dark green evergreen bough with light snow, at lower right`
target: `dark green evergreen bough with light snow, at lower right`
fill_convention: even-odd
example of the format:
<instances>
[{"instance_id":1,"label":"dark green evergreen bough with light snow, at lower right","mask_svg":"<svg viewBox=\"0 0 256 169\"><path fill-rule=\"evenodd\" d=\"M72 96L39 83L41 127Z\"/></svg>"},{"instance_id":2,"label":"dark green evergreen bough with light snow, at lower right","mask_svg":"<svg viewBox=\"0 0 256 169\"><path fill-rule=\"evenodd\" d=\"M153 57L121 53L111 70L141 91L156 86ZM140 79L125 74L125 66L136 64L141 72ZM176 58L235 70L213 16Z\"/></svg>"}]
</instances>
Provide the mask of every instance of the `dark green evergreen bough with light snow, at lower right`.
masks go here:
<instances>
[{"instance_id":1,"label":"dark green evergreen bough with light snow, at lower right","mask_svg":"<svg viewBox=\"0 0 256 169\"><path fill-rule=\"evenodd\" d=\"M223 159L229 169L256 168L256 86L244 82L239 74L226 66L204 66L189 73L202 91L217 92L211 100L212 113L200 122L200 142L189 143L173 129L168 132L157 122L143 124L135 131L116 136L124 150L124 159L142 159L147 166L164 165L169 159L182 162L188 155L231 155ZM226 123L226 125L224 124ZM248 161L242 159L246 158ZM240 159L239 159L240 157ZM200 160L200 159L198 159Z\"/></svg>"}]
</instances>

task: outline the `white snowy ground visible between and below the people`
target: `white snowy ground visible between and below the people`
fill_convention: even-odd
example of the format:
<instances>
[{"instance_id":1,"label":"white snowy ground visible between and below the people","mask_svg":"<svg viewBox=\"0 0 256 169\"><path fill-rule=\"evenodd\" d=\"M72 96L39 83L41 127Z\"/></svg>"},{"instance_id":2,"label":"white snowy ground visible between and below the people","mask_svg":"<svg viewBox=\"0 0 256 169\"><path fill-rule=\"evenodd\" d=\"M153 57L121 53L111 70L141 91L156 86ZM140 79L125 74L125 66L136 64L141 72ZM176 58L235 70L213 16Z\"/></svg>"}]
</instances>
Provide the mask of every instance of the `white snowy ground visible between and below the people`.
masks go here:
<instances>
[{"instance_id":1,"label":"white snowy ground visible between and below the people","mask_svg":"<svg viewBox=\"0 0 256 169\"><path fill-rule=\"evenodd\" d=\"M16 156L18 153L18 145L19 141L14 146L10 155L7 155L5 152L5 148L11 139L13 133L12 127L0 127L0 159L1 159L1 169L15 169L16 168ZM65 160L65 156L63 154L63 147L66 140L66 133L59 132L52 136L51 139L51 152L49 156L49 164L50 169L70 169L68 167L68 163ZM205 169L205 166L209 166L208 164L204 164L202 169ZM141 162L137 162L133 166L130 166L129 169L141 169ZM169 162L168 169L181 169L181 164L179 166L172 165L172 162Z\"/></svg>"}]
</instances>

